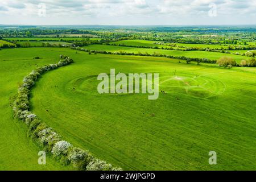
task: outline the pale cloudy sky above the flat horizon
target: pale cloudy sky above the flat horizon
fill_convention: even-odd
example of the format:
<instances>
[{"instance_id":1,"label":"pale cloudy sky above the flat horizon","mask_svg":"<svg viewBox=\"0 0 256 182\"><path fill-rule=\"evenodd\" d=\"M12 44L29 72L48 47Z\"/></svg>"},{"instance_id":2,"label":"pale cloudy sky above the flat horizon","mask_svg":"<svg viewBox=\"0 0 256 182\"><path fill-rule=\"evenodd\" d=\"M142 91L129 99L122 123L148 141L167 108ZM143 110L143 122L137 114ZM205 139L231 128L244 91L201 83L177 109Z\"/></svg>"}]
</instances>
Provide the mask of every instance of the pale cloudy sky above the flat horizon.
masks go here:
<instances>
[{"instance_id":1,"label":"pale cloudy sky above the flat horizon","mask_svg":"<svg viewBox=\"0 0 256 182\"><path fill-rule=\"evenodd\" d=\"M0 24L256 24L256 0L0 0Z\"/></svg>"}]
</instances>

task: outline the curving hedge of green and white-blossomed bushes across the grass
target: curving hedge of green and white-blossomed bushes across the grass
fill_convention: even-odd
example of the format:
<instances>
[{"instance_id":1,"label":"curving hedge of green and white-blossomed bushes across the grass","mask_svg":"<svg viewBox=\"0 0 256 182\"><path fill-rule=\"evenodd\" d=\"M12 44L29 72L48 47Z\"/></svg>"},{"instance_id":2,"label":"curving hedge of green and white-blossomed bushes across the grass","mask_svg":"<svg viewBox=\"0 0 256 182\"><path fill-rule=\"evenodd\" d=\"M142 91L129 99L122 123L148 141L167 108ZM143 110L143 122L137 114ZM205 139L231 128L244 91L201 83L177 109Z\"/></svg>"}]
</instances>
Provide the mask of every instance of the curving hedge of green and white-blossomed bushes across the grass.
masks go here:
<instances>
[{"instance_id":1,"label":"curving hedge of green and white-blossomed bushes across the grass","mask_svg":"<svg viewBox=\"0 0 256 182\"><path fill-rule=\"evenodd\" d=\"M30 90L35 85L36 80L45 72L73 63L67 56L60 55L60 61L56 64L49 64L33 70L24 77L23 83L19 86L18 94L12 103L14 116L26 122L28 126L28 136L44 146L47 152L51 152L54 158L60 160L61 164L72 164L79 170L87 171L121 171L121 168L113 167L103 160L94 158L88 151L73 147L71 143L61 139L46 123L40 121L34 113L30 111Z\"/></svg>"}]
</instances>

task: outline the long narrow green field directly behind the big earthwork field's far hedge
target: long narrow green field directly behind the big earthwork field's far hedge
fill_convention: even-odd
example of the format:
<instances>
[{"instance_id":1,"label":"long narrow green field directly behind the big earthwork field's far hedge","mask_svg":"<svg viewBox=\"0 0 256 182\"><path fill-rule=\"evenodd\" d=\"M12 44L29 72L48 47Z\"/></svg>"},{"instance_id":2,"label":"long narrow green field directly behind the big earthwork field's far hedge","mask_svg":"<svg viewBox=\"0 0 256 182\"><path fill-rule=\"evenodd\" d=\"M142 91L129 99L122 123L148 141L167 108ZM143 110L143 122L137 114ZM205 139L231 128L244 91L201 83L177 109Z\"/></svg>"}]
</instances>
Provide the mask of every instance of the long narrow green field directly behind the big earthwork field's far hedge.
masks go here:
<instances>
[{"instance_id":1,"label":"long narrow green field directly behind the big earthwork field's far hedge","mask_svg":"<svg viewBox=\"0 0 256 182\"><path fill-rule=\"evenodd\" d=\"M222 56L233 57L238 63L246 59L245 56L240 55L232 55L227 53L220 53L220 52L208 52L208 51L172 51L172 50L163 50L163 49L150 49L150 48L134 48L134 47L122 47L122 46L106 46L106 45L90 45L84 47L85 49L90 50L104 50L109 52L118 52L118 51L125 51L125 52L134 52L134 53L158 53L162 55L172 55L172 56L186 56L186 57L198 57L198 58L208 58L210 60L218 60Z\"/></svg>"}]
</instances>

